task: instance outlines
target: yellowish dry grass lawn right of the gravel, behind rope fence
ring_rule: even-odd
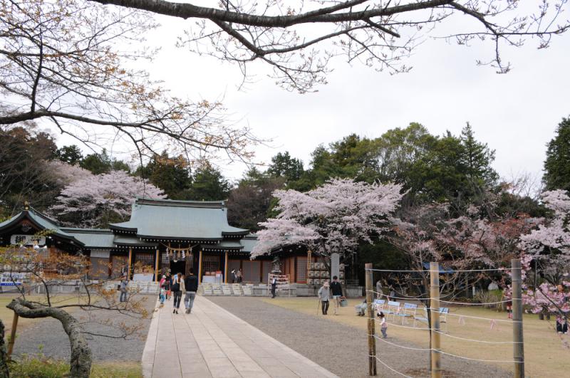
[[[289,310],[298,311],[299,313],[323,317],[323,315],[317,315],[318,300],[316,298],[266,298],[264,301]],[[358,327],[363,330],[363,336],[366,335],[366,317],[356,316],[354,311],[354,305],[361,302],[362,300],[358,299],[348,300],[348,307],[341,308],[340,315],[327,315],[326,320]],[[333,303],[331,302],[332,305]],[[332,314],[333,308],[329,308],[328,313]],[[423,316],[423,312],[418,311],[418,315]],[[465,315],[466,317],[458,315]],[[473,319],[467,316],[487,317],[497,320],[507,319],[506,313],[497,313],[496,310],[487,310],[479,306],[451,308],[450,315],[447,316],[447,322],[442,324],[442,331],[447,332],[447,335],[449,335],[441,335],[442,351],[476,359],[512,361],[512,344],[487,344],[450,337],[485,341],[512,341],[512,325],[508,322],[497,321],[497,325],[491,329],[489,320]],[[551,321],[546,321],[539,320],[538,315],[524,315],[524,367],[526,375],[532,377],[568,377],[570,335],[558,335],[554,332],[554,317],[552,319]],[[427,330],[397,327],[390,324],[393,322],[388,317],[388,337],[414,342],[419,347],[429,347],[429,332]],[[376,325],[376,331],[380,333],[378,323]],[[418,322],[417,327],[427,327],[427,325]],[[366,342],[364,338],[363,342]],[[377,341],[376,347],[381,348],[382,344],[381,341]],[[409,351],[403,350],[402,353],[403,356],[410,357]],[[497,363],[497,366],[509,371],[513,369],[510,363]],[[445,366],[443,368],[445,369]]]

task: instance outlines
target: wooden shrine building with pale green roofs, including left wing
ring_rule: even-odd
[[[40,231],[47,236],[36,236]],[[82,253],[90,260],[90,279],[159,280],[161,275],[189,273],[200,282],[231,283],[242,268],[244,283],[266,283],[273,255],[249,258],[257,238],[229,226],[224,201],[178,201],[137,198],[130,220],[108,229],[62,226],[26,206],[0,223],[0,245],[39,246],[48,253]],[[298,253],[296,253],[298,252]],[[291,283],[307,283],[306,251],[278,251],[281,269]]]

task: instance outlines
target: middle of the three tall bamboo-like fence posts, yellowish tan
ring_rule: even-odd
[[[430,309],[432,317],[432,329],[430,330],[432,345],[432,378],[441,378],[439,263],[430,263]]]

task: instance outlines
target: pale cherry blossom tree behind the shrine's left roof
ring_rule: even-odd
[[[125,171],[88,175],[65,187],[49,212],[70,226],[105,227],[125,220],[137,196],[165,198],[160,189]]]

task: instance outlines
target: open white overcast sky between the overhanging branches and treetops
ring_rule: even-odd
[[[185,22],[160,18],[163,24],[148,42],[162,50],[147,66],[165,80],[175,95],[193,99],[223,98],[234,120],[247,123],[258,137],[272,139],[257,148],[257,162],[269,162],[288,150],[309,164],[311,151],[355,132],[378,137],[394,127],[420,122],[432,134],[459,134],[470,122],[478,140],[496,149],[494,167],[503,177],[521,172],[541,175],[546,142],[556,125],[570,114],[570,33],[537,50],[537,42],[504,50],[513,69],[498,75],[475,61],[489,58],[492,46],[465,48],[445,41],[426,41],[406,62],[410,73],[390,75],[360,63],[333,61],[328,85],[317,93],[289,93],[267,78],[257,65],[255,83],[237,90],[239,68],[207,56],[175,48]],[[458,22],[458,21],[455,21]],[[242,163],[224,165],[231,179],[241,176]]]

